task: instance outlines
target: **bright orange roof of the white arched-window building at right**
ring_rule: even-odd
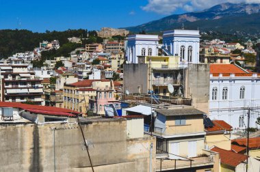
[[[233,64],[210,64],[211,74],[246,74],[246,72]]]

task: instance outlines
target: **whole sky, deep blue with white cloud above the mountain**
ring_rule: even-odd
[[[129,27],[224,2],[260,0],[0,0],[0,29],[44,32]]]

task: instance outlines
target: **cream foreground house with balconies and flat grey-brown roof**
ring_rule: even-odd
[[[152,135],[157,139],[157,171],[219,170],[218,155],[204,149],[202,111],[189,107],[155,109],[155,113]]]

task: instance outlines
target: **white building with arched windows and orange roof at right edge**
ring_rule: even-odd
[[[210,65],[209,117],[224,120],[234,129],[247,126],[245,108],[250,111],[250,127],[260,117],[260,76],[233,64]],[[259,127],[259,126],[258,126]]]

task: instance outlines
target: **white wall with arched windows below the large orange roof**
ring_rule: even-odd
[[[245,87],[245,98],[240,99],[240,88]],[[217,100],[212,100],[212,89],[217,87]],[[227,87],[227,100],[222,100],[222,89]],[[211,77],[209,89],[209,117],[229,123],[233,128],[239,128],[239,117],[244,116],[247,125],[246,107],[260,107],[260,78],[252,77]],[[260,110],[258,110],[260,111]],[[250,127],[257,127],[255,121],[258,112],[251,111]]]

